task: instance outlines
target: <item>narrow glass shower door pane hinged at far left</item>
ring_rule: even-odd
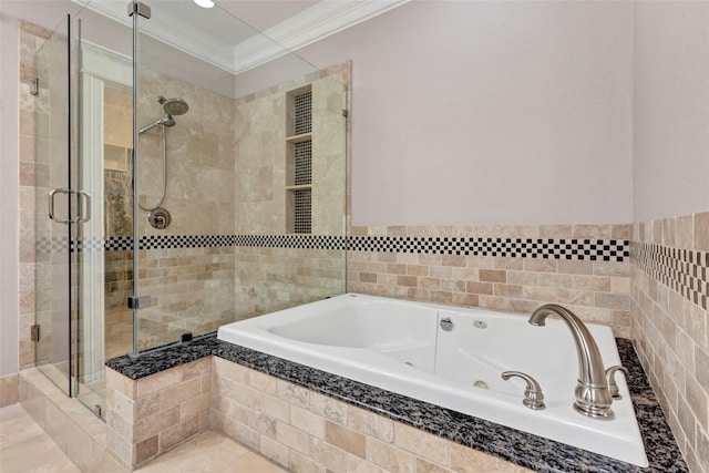
[[[72,193],[71,22],[66,17],[34,56],[35,136],[35,340],[37,366],[72,394],[75,342],[72,234],[79,195]],[[49,218],[48,218],[49,216]]]

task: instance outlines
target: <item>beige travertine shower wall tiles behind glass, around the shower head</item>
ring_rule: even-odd
[[[314,234],[343,235],[346,121],[341,109],[346,106],[342,81],[349,80],[349,71],[350,64],[345,63],[230,100],[141,68],[142,121],[154,120],[150,111],[160,116],[158,94],[181,96],[191,105],[167,128],[164,206],[173,214],[173,224],[163,232],[142,222],[141,235],[284,234],[286,91],[310,82],[316,93],[314,144],[318,148],[314,186],[323,203],[322,208],[314,203]],[[161,153],[157,133],[145,133],[141,146],[141,202],[151,205],[160,191],[155,185],[162,165],[155,158]],[[141,311],[141,349],[172,342],[185,331],[205,333],[228,321],[343,291],[343,251],[179,246],[141,251],[141,288],[153,297],[153,307]]]

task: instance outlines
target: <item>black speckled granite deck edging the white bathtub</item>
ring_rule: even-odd
[[[649,461],[648,467],[613,460],[227,343],[217,340],[216,333],[188,343],[143,353],[137,358],[130,356],[113,358],[106,361],[106,366],[136,380],[214,354],[538,472],[689,472],[659,402],[640,367],[633,343],[627,339],[616,339],[616,343],[620,360],[629,370],[628,387]]]

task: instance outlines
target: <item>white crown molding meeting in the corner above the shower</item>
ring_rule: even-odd
[[[72,0],[126,27],[133,25],[125,0]],[[176,16],[142,21],[141,32],[179,51],[238,74],[400,7],[410,0],[335,0],[314,7],[238,44],[224,44]],[[146,1],[150,4],[150,0]],[[165,16],[165,12],[162,13]]]

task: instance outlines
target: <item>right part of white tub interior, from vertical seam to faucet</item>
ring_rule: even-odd
[[[545,327],[534,327],[526,317],[490,312],[470,317],[440,310],[439,319],[442,318],[452,320],[454,326],[450,331],[438,331],[436,377],[520,398],[526,383],[520,378],[504,381],[501,374],[521,371],[540,383],[547,404],[568,402],[577,383],[578,360],[571,332],[562,320],[549,319]],[[610,328],[589,325],[588,329],[602,346],[604,364],[618,364],[615,346],[607,343],[614,340]]]

